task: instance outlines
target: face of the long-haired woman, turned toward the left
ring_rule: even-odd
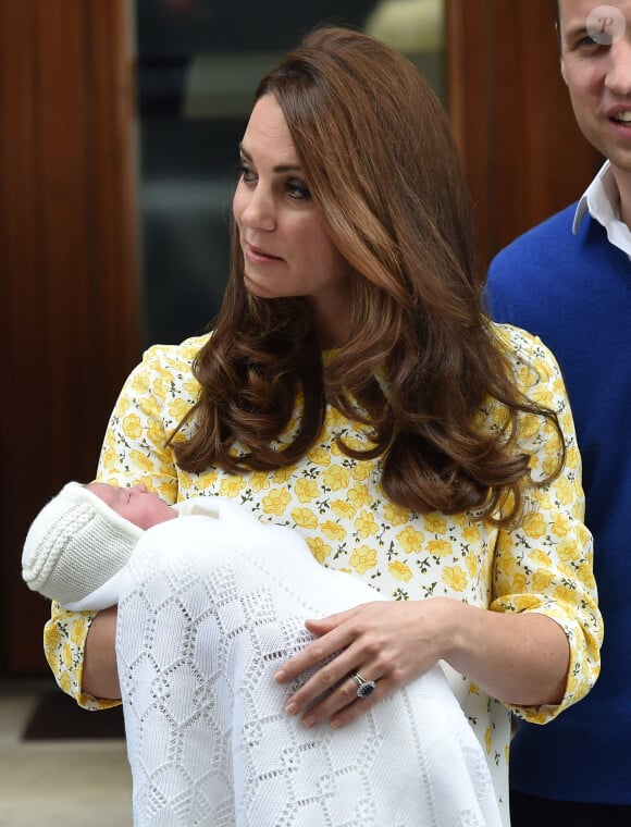
[[[348,264],[313,203],[283,112],[260,98],[240,145],[233,212],[245,285],[261,298],[307,296],[325,335],[346,319]]]

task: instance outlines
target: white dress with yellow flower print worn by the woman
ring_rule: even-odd
[[[163,446],[197,398],[191,362],[203,336],[178,346],[154,346],[145,354],[112,414],[98,479],[121,486],[143,482],[168,503],[199,495],[230,497],[263,521],[296,529],[322,565],[352,572],[393,600],[447,595],[494,612],[537,612],[554,618],[566,631],[571,653],[566,694],[558,706],[505,706],[466,678],[456,678],[456,693],[484,745],[506,812],[510,709],[544,724],[579,701],[596,680],[603,630],[591,535],[582,523],[580,456],[559,368],[534,336],[508,325],[497,330],[521,388],[558,412],[567,441],[562,474],[530,493],[519,528],[499,530],[482,522],[477,513],[423,515],[393,505],[380,484],[381,460],[352,459],[337,448],[337,435],[357,447],[367,444],[367,435],[363,427],[335,409],[329,409],[317,444],[290,468],[238,476],[213,467],[195,474],[182,471]],[[483,427],[500,425],[502,412],[493,400],[479,416]],[[523,416],[519,441],[532,457],[533,477],[554,467],[559,452],[554,429]],[[81,691],[83,650],[92,617],[53,604],[45,649],[61,688],[82,706],[102,708],[111,702]]]

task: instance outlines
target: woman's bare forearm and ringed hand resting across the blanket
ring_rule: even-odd
[[[306,626],[318,639],[275,676],[285,683],[331,658],[287,701],[287,713],[302,713],[306,726],[345,726],[441,659],[505,703],[555,705],[565,693],[569,643],[545,615],[432,597],[367,603]],[[357,696],[354,675],[375,682],[368,698]]]

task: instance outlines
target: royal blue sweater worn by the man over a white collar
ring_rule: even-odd
[[[491,264],[490,314],[556,355],[583,458],[585,522],[605,621],[595,688],[548,726],[521,724],[510,783],[568,801],[631,804],[631,262],[576,205]]]

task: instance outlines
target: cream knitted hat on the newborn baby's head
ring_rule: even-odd
[[[141,535],[85,485],[69,482],[28,530],[22,577],[62,606],[75,603],[123,568]]]

